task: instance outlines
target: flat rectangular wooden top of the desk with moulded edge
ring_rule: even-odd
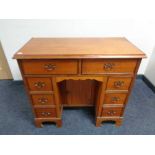
[[[15,59],[144,58],[126,38],[32,38]]]

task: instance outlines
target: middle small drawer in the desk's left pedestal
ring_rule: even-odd
[[[53,94],[50,95],[32,95],[33,105],[55,105]]]

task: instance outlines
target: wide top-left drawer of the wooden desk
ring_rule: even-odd
[[[23,60],[24,74],[77,74],[77,60]]]

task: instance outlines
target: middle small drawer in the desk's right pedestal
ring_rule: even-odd
[[[108,93],[105,95],[104,104],[124,104],[127,94]]]

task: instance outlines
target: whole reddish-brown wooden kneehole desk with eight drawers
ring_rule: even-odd
[[[32,38],[14,55],[37,127],[61,127],[63,107],[79,106],[95,107],[97,127],[109,120],[121,125],[145,57],[125,38]]]

